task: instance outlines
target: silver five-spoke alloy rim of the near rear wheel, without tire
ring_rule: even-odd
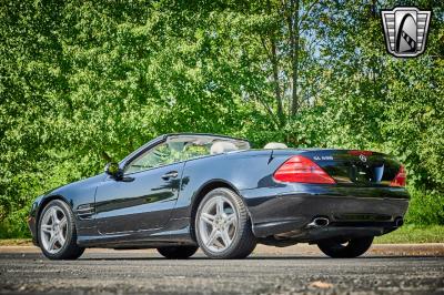
[[[233,243],[238,228],[238,212],[225,196],[218,195],[204,204],[199,216],[200,237],[211,252],[223,252]]]

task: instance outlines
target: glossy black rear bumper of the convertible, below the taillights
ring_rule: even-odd
[[[381,196],[363,196],[359,193],[359,196],[354,196],[339,194],[337,191],[322,194],[285,192],[265,196],[260,196],[253,190],[241,193],[258,237],[278,235],[299,242],[334,236],[382,235],[400,226],[396,223],[402,221],[408,207],[408,194],[403,189],[392,190],[391,197],[383,193]],[[329,225],[310,226],[315,217],[327,218]]]

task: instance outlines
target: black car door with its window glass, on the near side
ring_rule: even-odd
[[[95,220],[101,234],[163,227],[178,199],[184,162],[174,163],[162,143],[131,161],[124,176],[108,176],[95,193]]]

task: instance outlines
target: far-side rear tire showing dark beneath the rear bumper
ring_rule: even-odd
[[[364,254],[373,243],[373,236],[351,240],[329,238],[317,243],[317,247],[333,258],[354,258]]]

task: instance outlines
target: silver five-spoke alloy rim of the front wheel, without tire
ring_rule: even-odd
[[[59,206],[51,206],[40,223],[40,236],[42,246],[51,254],[62,250],[67,243],[68,220],[63,210]]]

